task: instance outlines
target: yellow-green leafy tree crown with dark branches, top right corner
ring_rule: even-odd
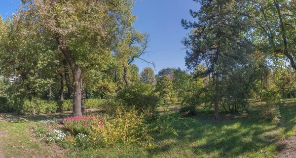
[[[258,50],[270,58],[287,58],[295,63],[296,28],[294,0],[245,0],[244,15],[252,24],[248,34],[254,39]]]

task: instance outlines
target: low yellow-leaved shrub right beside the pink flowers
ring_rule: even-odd
[[[151,129],[143,117],[143,114],[138,115],[138,111],[122,112],[122,109],[118,108],[116,116],[107,119],[103,126],[100,124],[93,126],[90,136],[96,145],[138,143],[143,147],[151,148],[153,138],[148,134]]]

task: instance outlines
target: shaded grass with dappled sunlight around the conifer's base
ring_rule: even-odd
[[[253,114],[221,113],[219,121],[212,119],[211,110],[201,110],[199,116],[184,119],[178,119],[178,113],[164,115],[178,120],[172,126],[179,136],[172,132],[153,133],[159,144],[153,154],[179,148],[190,149],[196,157],[274,157],[284,146],[279,141],[285,133],[295,130],[296,106],[282,107],[291,112],[281,111],[284,123],[278,125],[260,120],[260,107],[253,109]]]

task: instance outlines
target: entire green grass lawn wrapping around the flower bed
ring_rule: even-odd
[[[170,130],[151,132],[155,148],[145,149],[136,144],[86,149],[64,149],[45,144],[34,136],[31,127],[38,120],[61,118],[64,115],[25,117],[0,115],[0,152],[5,157],[74,157],[74,158],[271,158],[285,149],[286,139],[296,135],[296,100],[285,100],[280,106],[280,123],[264,121],[259,116],[261,104],[252,105],[250,112],[221,112],[221,119],[212,119],[213,111],[200,108],[198,116],[183,118],[172,109],[160,117]],[[161,108],[163,110],[163,108]],[[174,129],[174,130],[173,130]],[[174,134],[174,132],[176,132]],[[295,147],[295,146],[294,146]],[[0,155],[1,158],[1,155]]]

